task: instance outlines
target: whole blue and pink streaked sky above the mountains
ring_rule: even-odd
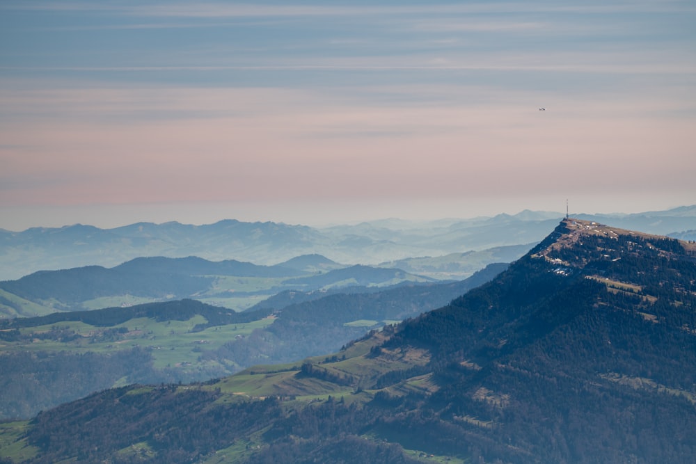
[[[693,205],[693,24],[669,0],[3,0],[0,228]]]

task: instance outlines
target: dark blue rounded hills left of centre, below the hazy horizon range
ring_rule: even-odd
[[[302,260],[314,264],[302,271],[302,266],[297,265]],[[332,270],[322,273],[316,270],[317,266]],[[389,287],[429,281],[432,279],[399,269],[345,267],[319,255],[298,258],[290,266],[260,266],[236,260],[211,262],[199,257],[140,257],[111,269],[86,266],[38,271],[18,280],[0,282],[0,314],[31,317],[56,310],[98,309],[180,298],[242,310],[288,289]]]

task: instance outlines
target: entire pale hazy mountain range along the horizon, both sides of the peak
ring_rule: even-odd
[[[22,232],[0,230],[0,280],[88,265],[111,268],[143,256],[198,256],[216,262],[237,259],[270,266],[302,255],[319,254],[345,264],[377,265],[409,257],[439,257],[538,243],[562,216],[525,210],[494,217],[388,219],[322,229],[226,220],[207,225],[136,223],[108,230],[80,224],[33,227]],[[694,206],[642,214],[576,217],[654,234],[696,230]]]

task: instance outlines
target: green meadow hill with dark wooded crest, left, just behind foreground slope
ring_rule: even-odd
[[[237,313],[198,301],[58,312],[0,322],[0,419],[127,383],[207,380],[239,370],[203,362],[235,337],[273,323],[270,311]]]

